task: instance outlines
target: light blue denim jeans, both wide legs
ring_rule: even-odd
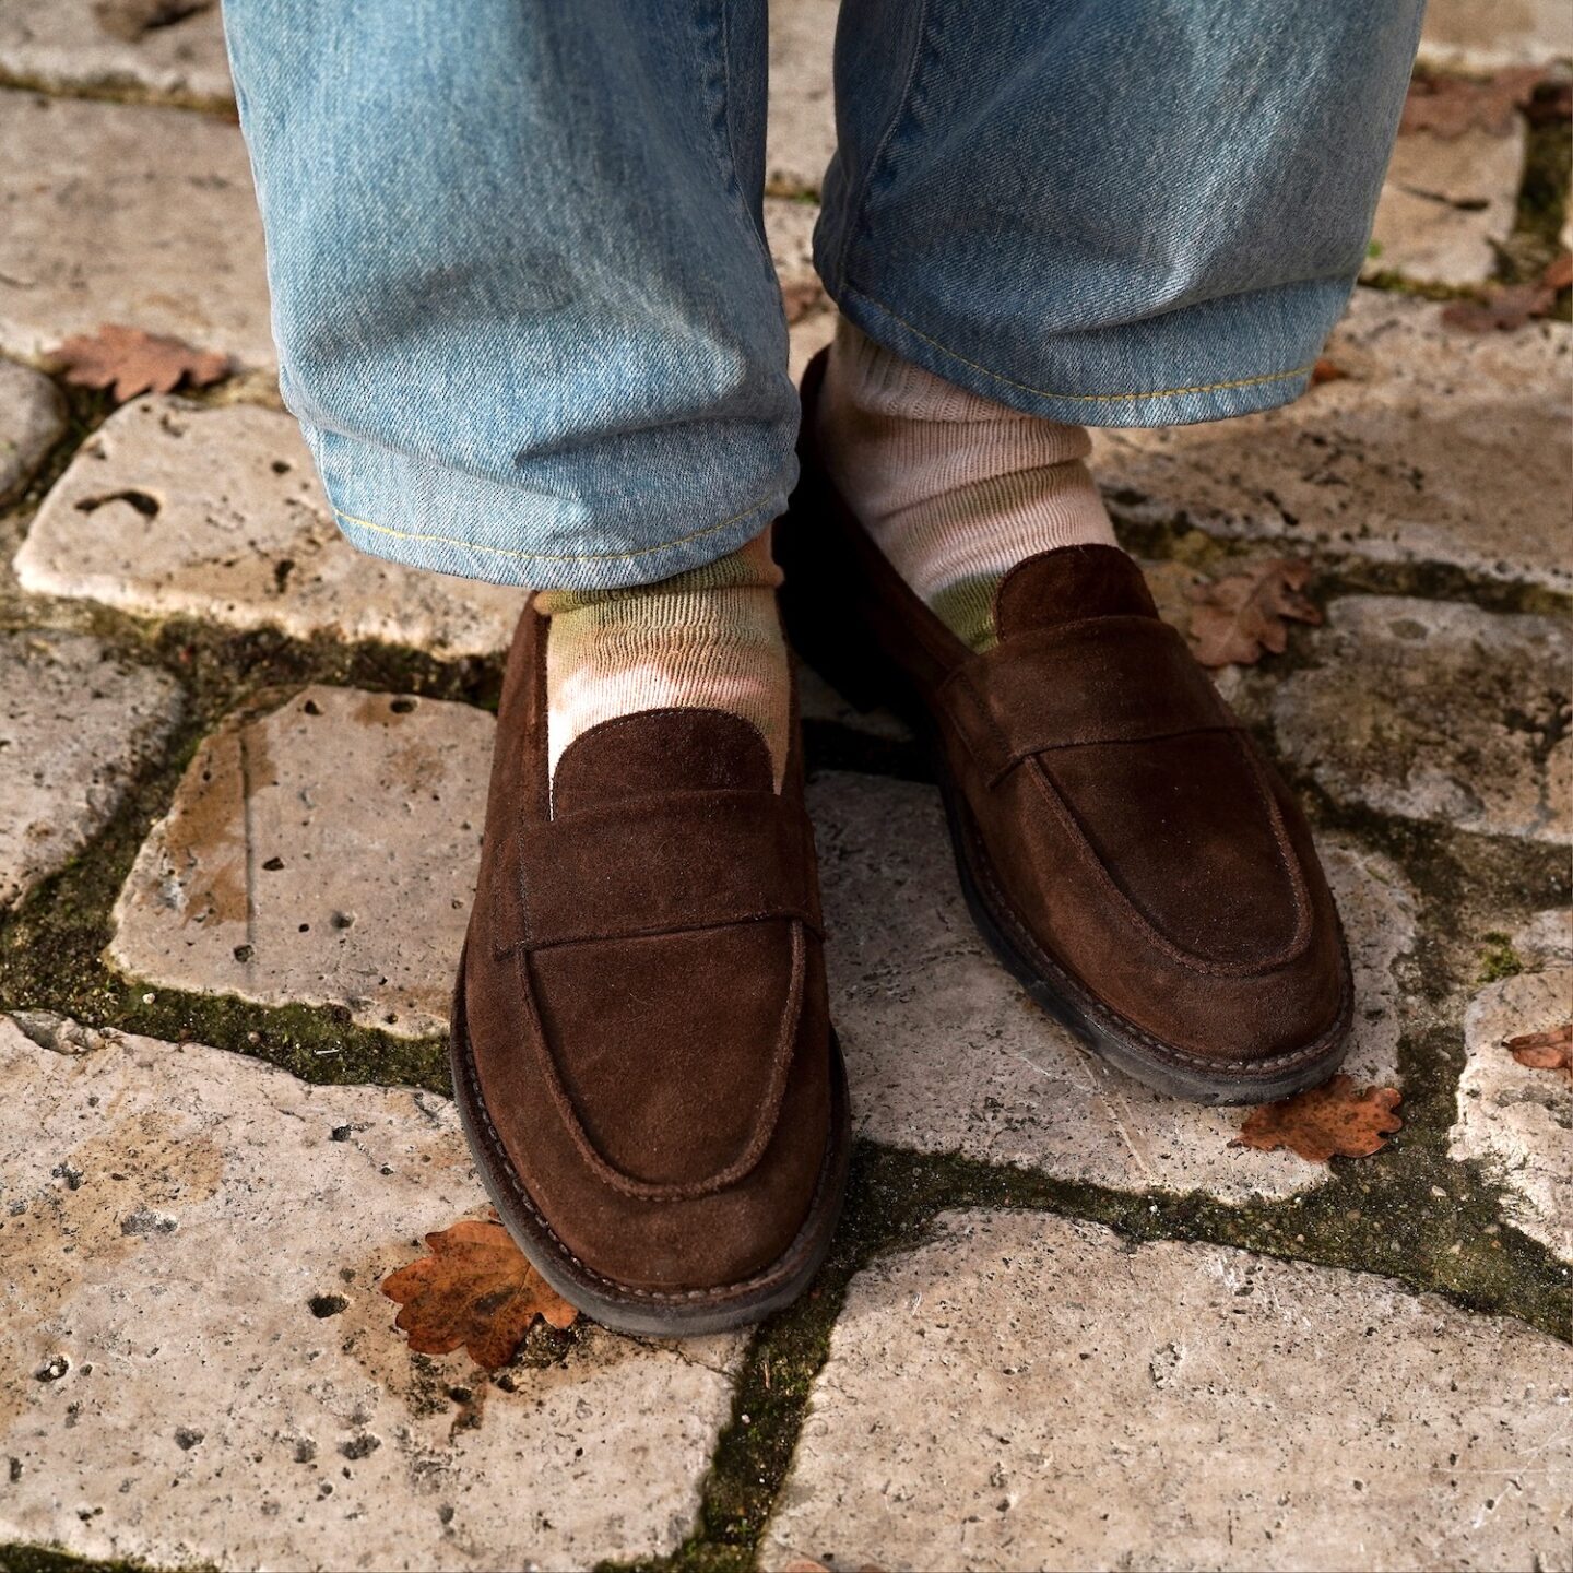
[[[846,0],[815,256],[881,344],[1033,415],[1295,398],[1422,0]],[[643,584],[757,535],[798,398],[764,0],[225,0],[283,395],[401,563]]]

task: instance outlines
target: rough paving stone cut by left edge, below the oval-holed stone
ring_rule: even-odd
[[[181,713],[181,689],[82,634],[0,634],[0,908],[63,867]]]

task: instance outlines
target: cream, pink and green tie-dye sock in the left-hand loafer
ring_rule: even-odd
[[[642,709],[725,709],[786,769],[791,686],[771,532],[703,568],[628,590],[541,590],[551,769],[574,738]]]

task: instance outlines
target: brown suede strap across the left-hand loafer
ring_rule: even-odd
[[[519,831],[524,944],[786,917],[821,928],[813,831],[763,791],[639,798]]]

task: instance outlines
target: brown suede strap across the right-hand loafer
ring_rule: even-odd
[[[1240,730],[1184,639],[1151,617],[1013,634],[958,667],[939,698],[989,785],[1052,749]]]

